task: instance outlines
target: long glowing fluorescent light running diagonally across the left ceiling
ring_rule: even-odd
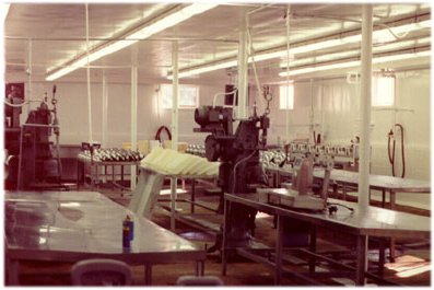
[[[128,34],[125,36],[125,39],[117,40],[117,42],[112,42],[106,45],[99,46],[92,51],[90,51],[89,56],[87,54],[83,54],[75,60],[72,60],[68,66],[64,66],[63,68],[60,68],[58,70],[49,72],[47,76],[46,80],[47,81],[52,81],[56,80],[60,77],[63,77],[71,71],[74,71],[83,66],[89,65],[92,61],[95,61],[104,56],[110,55],[113,53],[116,53],[120,49],[124,49],[137,42],[139,39],[145,39],[159,32],[162,32],[168,27],[172,27],[176,24],[181,23],[183,21],[186,21],[193,15],[203,13],[210,9],[213,9],[218,4],[211,4],[211,3],[192,3],[187,7],[184,7],[176,12],[169,13],[167,15],[164,15],[161,19],[155,20],[151,24],[148,24],[146,26],[136,30],[132,33]]]

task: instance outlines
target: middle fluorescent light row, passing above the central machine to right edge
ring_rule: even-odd
[[[400,26],[395,26],[395,27],[389,27],[389,28],[383,28],[373,32],[373,38],[374,39],[382,39],[382,42],[385,42],[385,39],[388,40],[395,40],[395,36],[390,33],[389,30],[391,30],[395,34],[402,34],[407,32],[413,32],[422,28],[429,28],[431,27],[431,20],[426,21],[421,21],[418,23],[410,23],[410,24],[404,24]],[[391,38],[392,37],[392,38]],[[424,38],[425,39],[425,38]],[[316,43],[310,43],[306,45],[301,45],[301,46],[292,46],[290,48],[291,55],[297,55],[297,54],[306,54],[310,53],[314,50],[319,50],[319,49],[325,49],[325,48],[330,48],[330,47],[336,47],[336,46],[341,46],[345,44],[352,44],[352,43],[357,43],[362,40],[362,35],[356,34],[356,35],[350,35],[350,36],[344,36],[341,38],[336,38],[336,39],[326,39],[326,40],[320,40]],[[263,51],[263,53],[258,53],[255,56],[255,61],[262,61],[262,60],[269,60],[269,59],[274,59],[274,58],[281,58],[281,57],[286,57],[286,49],[274,49],[273,51]],[[251,57],[248,59],[248,62],[251,62],[253,59]],[[235,65],[234,65],[235,63]],[[179,71],[178,77],[179,78],[185,78],[185,77],[190,77],[195,74],[200,74],[203,72],[209,72],[218,69],[223,69],[223,68],[230,68],[236,66],[236,61],[227,60],[224,62],[219,62],[219,65],[214,63],[207,63],[202,66],[197,66],[193,68],[185,68],[184,70],[181,69]],[[172,76],[167,77],[168,79],[172,79]]]

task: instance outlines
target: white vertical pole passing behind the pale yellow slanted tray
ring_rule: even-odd
[[[172,43],[172,149],[178,150],[178,95],[179,95],[179,78],[178,78],[178,42]],[[176,187],[177,178],[171,178],[171,230],[175,231],[175,211],[176,211]]]

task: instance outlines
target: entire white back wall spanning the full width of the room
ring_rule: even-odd
[[[395,123],[403,125],[406,146],[406,177],[430,179],[430,70],[417,70],[397,73],[397,106],[411,112],[373,111],[372,112],[372,173],[391,175],[387,158],[387,134]],[[162,125],[171,127],[169,109],[159,109],[157,84],[141,84],[138,88],[138,139],[153,139]],[[34,83],[33,96],[51,94],[47,83]],[[224,91],[222,84],[201,84],[200,105],[211,105],[215,93]],[[263,114],[265,103],[250,86],[250,112],[254,102],[257,112]],[[321,134],[326,143],[349,144],[359,135],[359,91],[355,84],[345,79],[306,81],[295,83],[293,111],[279,109],[279,90],[274,85],[274,95],[270,104],[271,127],[269,143],[281,143],[296,138],[310,138],[314,129]],[[63,144],[80,144],[87,140],[87,93],[85,83],[57,84],[60,140]],[[222,104],[223,97],[218,98]],[[130,84],[108,83],[108,124],[107,146],[120,147],[130,139]],[[313,108],[313,111],[312,111]],[[22,117],[26,117],[25,109]],[[313,112],[313,115],[312,115]],[[102,140],[102,85],[92,84],[93,139]],[[310,127],[310,120],[314,127]],[[289,131],[286,138],[286,123]],[[193,119],[193,109],[179,111],[179,141],[203,143],[207,134],[192,132],[198,127]],[[399,153],[399,152],[398,152]],[[398,169],[398,172],[400,170]],[[399,195],[398,202],[429,207],[429,195]]]

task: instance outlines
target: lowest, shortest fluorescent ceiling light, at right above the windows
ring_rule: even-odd
[[[373,63],[383,63],[383,62],[388,62],[388,61],[394,61],[394,60],[419,58],[419,57],[425,57],[425,56],[430,56],[430,55],[431,55],[431,51],[426,50],[426,51],[420,51],[420,53],[413,53],[413,54],[398,54],[398,55],[391,55],[391,56],[376,57],[376,58],[373,58]],[[325,66],[319,66],[319,67],[308,67],[308,68],[290,70],[290,77],[303,74],[303,73],[309,73],[309,72],[318,72],[318,71],[331,70],[331,69],[344,69],[344,68],[352,68],[352,67],[359,67],[359,66],[360,66],[360,60],[352,60],[352,61],[338,62],[338,63],[325,65]],[[288,71],[280,72],[279,77],[288,77]]]

